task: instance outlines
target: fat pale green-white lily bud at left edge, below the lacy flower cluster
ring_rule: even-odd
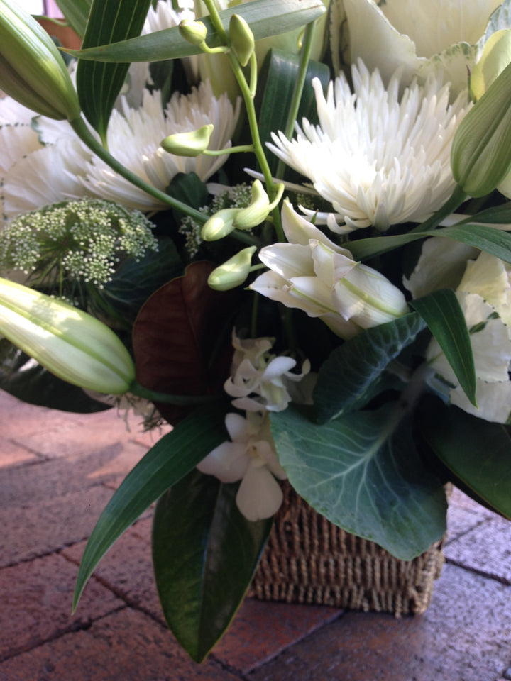
[[[123,394],[135,365],[101,321],[45,294],[0,278],[0,333],[59,378],[106,394]]]

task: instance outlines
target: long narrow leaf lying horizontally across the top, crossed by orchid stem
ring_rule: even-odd
[[[129,1],[129,0],[128,0]],[[270,35],[280,35],[293,31],[314,21],[325,11],[321,0],[253,0],[246,4],[236,4],[221,11],[220,18],[226,30],[233,14],[242,16],[251,27],[255,40],[269,38]],[[201,18],[207,27],[207,44],[210,48],[221,44],[221,39],[211,25],[209,17]],[[84,60],[98,60],[102,62],[155,62],[177,57],[189,57],[202,54],[197,45],[191,45],[181,37],[179,28],[165,28],[139,38],[122,40],[111,45],[112,40],[105,40],[104,44],[87,50],[66,50],[71,55]]]

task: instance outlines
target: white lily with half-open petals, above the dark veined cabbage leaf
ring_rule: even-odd
[[[282,226],[290,243],[265,246],[260,260],[270,268],[251,289],[287,307],[319,317],[341,338],[393,321],[408,311],[400,289],[346,248],[299,216],[285,201]]]

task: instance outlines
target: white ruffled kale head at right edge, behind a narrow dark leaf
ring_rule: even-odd
[[[451,404],[468,414],[507,423],[511,416],[510,265],[494,255],[434,237],[424,243],[417,267],[405,280],[405,286],[414,298],[439,288],[456,288],[471,335],[478,406],[466,397],[434,339],[427,348],[427,360],[440,382],[434,380],[432,384],[446,386]]]

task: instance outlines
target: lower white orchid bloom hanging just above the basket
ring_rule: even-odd
[[[270,433],[268,413],[227,414],[231,441],[216,447],[197,468],[221,482],[241,480],[236,504],[243,516],[257,521],[273,516],[282,503],[282,490],[275,477],[287,477],[278,463]]]

